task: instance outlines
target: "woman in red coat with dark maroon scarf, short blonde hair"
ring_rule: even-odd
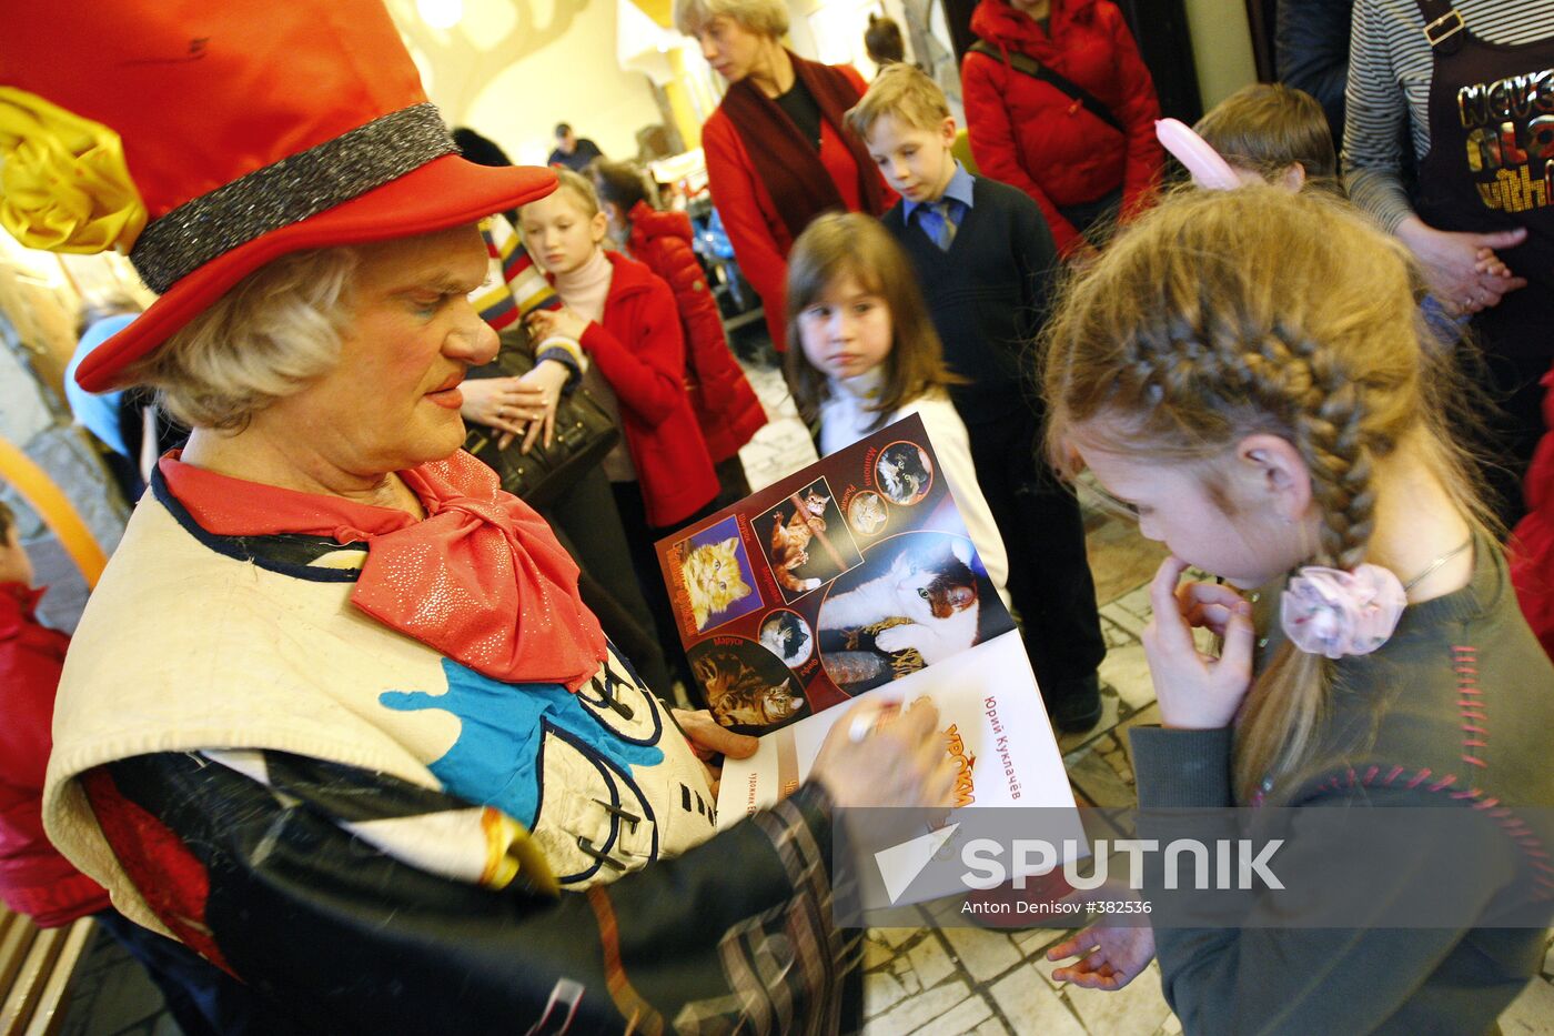
[[[782,0],[676,0],[674,25],[696,37],[702,58],[729,82],[701,128],[707,185],[782,350],[794,238],[822,212],[878,216],[895,201],[842,121],[867,84],[850,65],[822,65],[786,50]]]

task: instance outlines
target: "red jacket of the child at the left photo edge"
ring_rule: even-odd
[[[44,834],[54,691],[70,638],[33,618],[42,596],[0,583],[0,899],[51,929],[106,910],[109,901]]]

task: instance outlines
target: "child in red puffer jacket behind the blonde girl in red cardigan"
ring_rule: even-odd
[[[718,470],[718,502],[743,499],[751,484],[740,446],[766,425],[766,411],[729,352],[718,302],[692,247],[690,216],[653,208],[642,173],[632,165],[595,162],[592,174],[611,236],[674,292],[685,333],[685,389]]]

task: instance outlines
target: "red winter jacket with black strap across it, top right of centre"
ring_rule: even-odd
[[[1124,215],[1147,205],[1166,162],[1155,138],[1155,82],[1122,11],[1108,0],[1052,0],[1051,36],[1004,0],[982,0],[971,31],[1002,53],[1024,53],[1089,90],[1127,128],[1119,134],[1049,82],[998,58],[968,53],[960,68],[967,134],[982,176],[1037,199],[1058,252],[1078,230],[1058,213],[1122,188]]]

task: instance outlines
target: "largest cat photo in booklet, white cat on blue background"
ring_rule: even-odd
[[[817,636],[825,675],[856,695],[1012,628],[970,538],[908,532],[830,586]]]

